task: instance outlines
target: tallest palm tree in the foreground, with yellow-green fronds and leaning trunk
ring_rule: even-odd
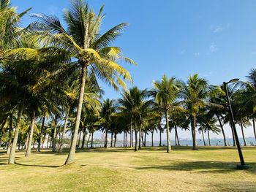
[[[127,23],[121,23],[111,28],[105,34],[100,35],[102,19],[105,17],[105,15],[102,15],[102,10],[103,7],[99,10],[98,14],[95,14],[90,9],[89,4],[85,4],[82,0],[72,0],[70,9],[64,11],[67,30],[61,26],[61,22],[56,17],[34,15],[40,20],[40,22],[34,24],[34,28],[41,30],[37,32],[41,43],[50,45],[48,48],[45,47],[44,50],[50,49],[55,51],[55,53],[69,55],[69,60],[76,58],[77,61],[74,61],[72,64],[80,70],[78,110],[74,133],[72,134],[72,143],[65,164],[72,163],[75,158],[75,146],[78,139],[86,76],[94,74],[116,90],[118,85],[126,87],[124,80],[132,81],[129,72],[117,62],[123,60],[135,64],[134,61],[124,57],[121,53],[121,48],[110,46],[121,34],[124,27],[127,26]],[[20,49],[15,50],[15,53],[35,57],[38,51]]]

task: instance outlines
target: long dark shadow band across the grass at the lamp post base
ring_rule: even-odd
[[[141,166],[136,169],[164,169],[173,171],[197,171],[201,173],[226,173],[235,172],[238,163],[229,163],[222,161],[190,161],[190,162],[174,162],[165,166]],[[256,163],[247,164],[249,169],[245,169],[244,172],[250,172],[256,174]]]

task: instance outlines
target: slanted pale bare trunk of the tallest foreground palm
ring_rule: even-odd
[[[67,160],[65,164],[71,164],[72,162],[75,161],[75,147],[78,139],[78,129],[80,126],[80,118],[81,118],[81,112],[83,107],[83,96],[84,96],[85,85],[86,85],[86,64],[83,64],[82,74],[81,74],[80,94],[78,99],[78,112],[75,118],[75,128],[74,128],[74,134],[72,135],[72,142],[69,149],[69,155],[67,156]]]

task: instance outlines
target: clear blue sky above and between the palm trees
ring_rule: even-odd
[[[130,23],[114,45],[137,62],[138,66],[127,69],[139,88],[150,88],[162,74],[186,80],[198,73],[211,84],[233,77],[245,80],[255,67],[256,1],[91,0],[89,4],[95,11],[105,4],[102,31]],[[69,1],[12,0],[12,5],[19,11],[33,7],[31,13],[61,17]],[[23,23],[29,22],[30,18],[24,18]],[[104,88],[107,97],[119,96]]]

